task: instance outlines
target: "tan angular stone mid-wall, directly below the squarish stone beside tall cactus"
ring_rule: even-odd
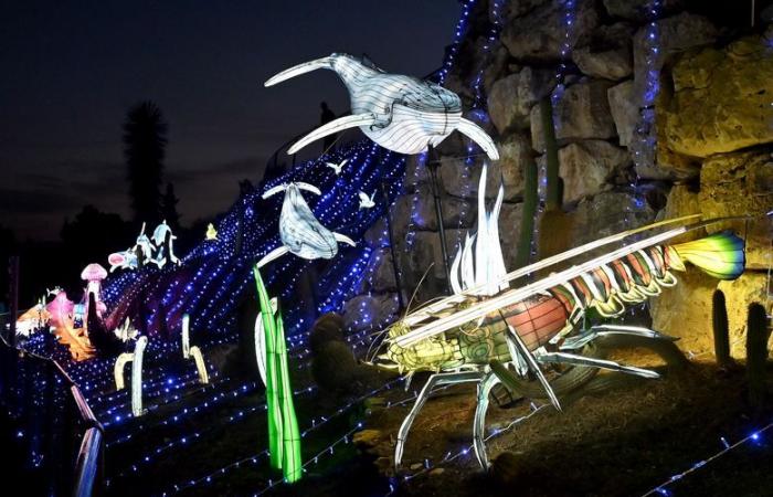
[[[563,202],[573,203],[611,188],[608,180],[631,163],[627,150],[608,141],[584,140],[559,150]]]

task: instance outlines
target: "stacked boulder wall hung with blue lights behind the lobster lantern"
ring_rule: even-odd
[[[525,167],[544,163],[538,103],[557,91],[557,74],[562,87],[553,114],[572,245],[656,218],[773,209],[773,28],[723,25],[738,17],[701,11],[702,2],[660,3],[653,19],[644,0],[576,0],[568,31],[563,2],[510,0],[499,13],[499,39],[485,50],[495,12],[478,2],[446,86],[462,95],[466,109],[476,102],[486,107],[487,115],[477,108],[467,117],[496,138],[501,155],[489,168],[487,198],[501,177],[500,237],[508,268],[523,212]],[[559,71],[561,62],[565,68]],[[478,75],[483,98],[469,84]],[[476,220],[483,161],[477,149],[469,157],[468,145],[454,134],[438,148],[451,257]],[[426,272],[416,293],[424,302],[444,293],[445,274],[430,175],[420,158],[407,160],[406,192],[391,209],[395,262],[405,302]],[[748,273],[719,283],[690,269],[649,306],[654,327],[682,337],[695,353],[711,349],[714,288],[728,297],[734,355],[743,348],[745,306],[764,303],[773,292],[765,288],[773,257],[770,218],[710,231],[726,228],[746,237]],[[362,326],[354,324],[356,309],[384,319],[398,311],[385,233],[382,222],[368,235],[380,256],[361,295],[347,305],[353,327]]]

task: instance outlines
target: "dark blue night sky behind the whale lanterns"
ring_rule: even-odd
[[[56,240],[87,203],[128,218],[131,105],[165,114],[165,179],[187,224],[227,209],[240,179],[257,181],[276,148],[318,124],[321,101],[348,108],[332,72],[264,88],[267,77],[337,51],[423,76],[459,13],[456,0],[65,3],[0,14],[0,224],[21,240]]]

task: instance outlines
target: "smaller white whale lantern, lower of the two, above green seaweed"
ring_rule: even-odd
[[[357,245],[350,237],[322,226],[314,216],[300,190],[321,194],[317,187],[303,182],[283,183],[263,193],[263,198],[267,199],[284,191],[285,200],[279,214],[282,246],[264,255],[257,262],[258,268],[288,252],[308,260],[332,258],[338,253],[338,242]]]

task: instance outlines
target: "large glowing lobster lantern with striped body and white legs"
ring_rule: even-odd
[[[605,360],[587,351],[593,350],[594,340],[603,337],[627,336],[638,342],[652,340],[660,343],[674,340],[671,337],[639,327],[601,325],[581,329],[580,325],[591,308],[604,317],[614,317],[622,314],[626,305],[657,296],[663,287],[677,283],[673,272],[686,271],[685,262],[720,279],[737,278],[744,268],[744,246],[743,241],[732,233],[717,233],[676,245],[664,244],[687,231],[719,221],[696,222],[697,218],[690,215],[663,221],[612,235],[505,276],[499,276],[497,271],[491,273],[491,268],[499,267],[497,251],[489,250],[494,255],[488,261],[485,253],[478,252],[473,263],[472,247],[463,247],[452,274],[456,294],[420,308],[392,325],[388,329],[386,351],[379,356],[382,366],[409,374],[433,372],[400,427],[395,466],[401,464],[413,420],[436,387],[462,382],[478,384],[474,448],[480,466],[487,467],[485,415],[488,395],[497,383],[517,388],[533,378],[532,381],[540,384],[560,410],[559,400],[543,371],[550,364],[583,367],[580,371],[587,371],[587,379],[599,369],[658,378],[655,371]],[[485,222],[481,224],[480,220]],[[479,213],[477,243],[486,240],[487,230],[491,230],[490,221],[490,215],[486,218]],[[526,286],[509,287],[510,282],[560,261],[621,242],[634,233],[674,223],[681,223],[681,226],[629,243]],[[472,237],[466,245],[469,245],[469,240]],[[476,277],[478,271],[488,271],[493,279]],[[457,272],[462,273],[460,281]]]

